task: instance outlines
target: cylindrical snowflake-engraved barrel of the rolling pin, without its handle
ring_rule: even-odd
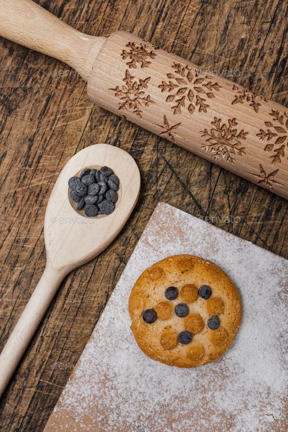
[[[288,113],[128,32],[103,43],[88,97],[108,111],[288,199]]]

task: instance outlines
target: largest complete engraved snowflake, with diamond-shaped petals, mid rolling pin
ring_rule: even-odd
[[[173,63],[174,73],[166,74],[168,82],[162,81],[158,85],[161,92],[168,92],[166,102],[173,102],[171,107],[173,114],[181,114],[182,109],[186,108],[193,114],[196,106],[199,112],[207,112],[209,104],[207,99],[215,98],[214,92],[219,91],[222,86],[218,82],[210,81],[210,75],[200,76],[199,70],[189,65]]]

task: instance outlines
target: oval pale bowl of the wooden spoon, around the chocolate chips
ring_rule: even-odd
[[[119,178],[118,201],[109,215],[89,218],[71,205],[68,180],[83,168],[107,165]],[[102,252],[129,218],[140,191],[140,173],[124,150],[95,144],[73,156],[62,169],[52,190],[44,221],[47,261],[67,273]]]

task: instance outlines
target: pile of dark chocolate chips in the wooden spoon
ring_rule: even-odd
[[[78,203],[76,209],[84,209],[86,216],[113,213],[118,199],[119,179],[108,166],[98,170],[85,168],[80,177],[71,177],[68,185],[71,199]]]

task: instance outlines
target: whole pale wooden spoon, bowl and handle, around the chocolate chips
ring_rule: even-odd
[[[87,166],[109,166],[120,180],[118,201],[110,215],[87,218],[70,203],[68,180]],[[84,148],[62,169],[48,201],[44,240],[46,267],[0,354],[0,395],[26,350],[63,278],[96,257],[115,239],[140,192],[140,173],[124,150],[107,144]]]

